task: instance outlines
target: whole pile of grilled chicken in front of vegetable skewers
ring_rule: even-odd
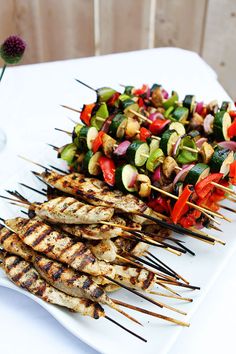
[[[169,291],[167,285],[188,287],[165,265],[156,263],[153,270],[137,262],[149,247],[142,242],[142,230],[155,232],[153,242],[169,235],[146,219],[152,210],[144,202],[78,173],[46,170],[37,175],[47,185],[47,200],[30,203],[13,193],[27,216],[4,220],[0,226],[2,267],[16,285],[95,319],[105,316],[101,305],[124,314],[121,303],[107,294],[119,287],[136,294],[148,293],[157,284]]]

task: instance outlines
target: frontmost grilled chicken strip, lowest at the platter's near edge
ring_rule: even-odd
[[[105,315],[103,308],[98,303],[66,295],[49,285],[29,262],[18,256],[7,256],[3,261],[3,268],[13,283],[46,302],[67,307],[83,316],[95,319]]]

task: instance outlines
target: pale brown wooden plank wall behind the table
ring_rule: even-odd
[[[0,0],[0,43],[23,63],[175,46],[198,52],[236,98],[236,0]]]

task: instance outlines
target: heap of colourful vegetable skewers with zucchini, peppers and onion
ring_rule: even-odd
[[[71,171],[139,195],[164,219],[186,228],[217,227],[217,219],[226,219],[220,201],[235,201],[236,183],[236,111],[230,102],[204,104],[194,95],[180,102],[175,91],[169,96],[158,84],[94,91],[97,101],[76,110],[82,123],[66,131],[72,143],[54,146]]]

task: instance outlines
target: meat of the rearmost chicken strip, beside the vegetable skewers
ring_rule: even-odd
[[[79,173],[61,175],[54,171],[41,174],[43,180],[54,188],[80,197],[92,205],[112,207],[124,213],[150,214],[152,210],[132,194],[110,190],[105,182],[85,177]]]

